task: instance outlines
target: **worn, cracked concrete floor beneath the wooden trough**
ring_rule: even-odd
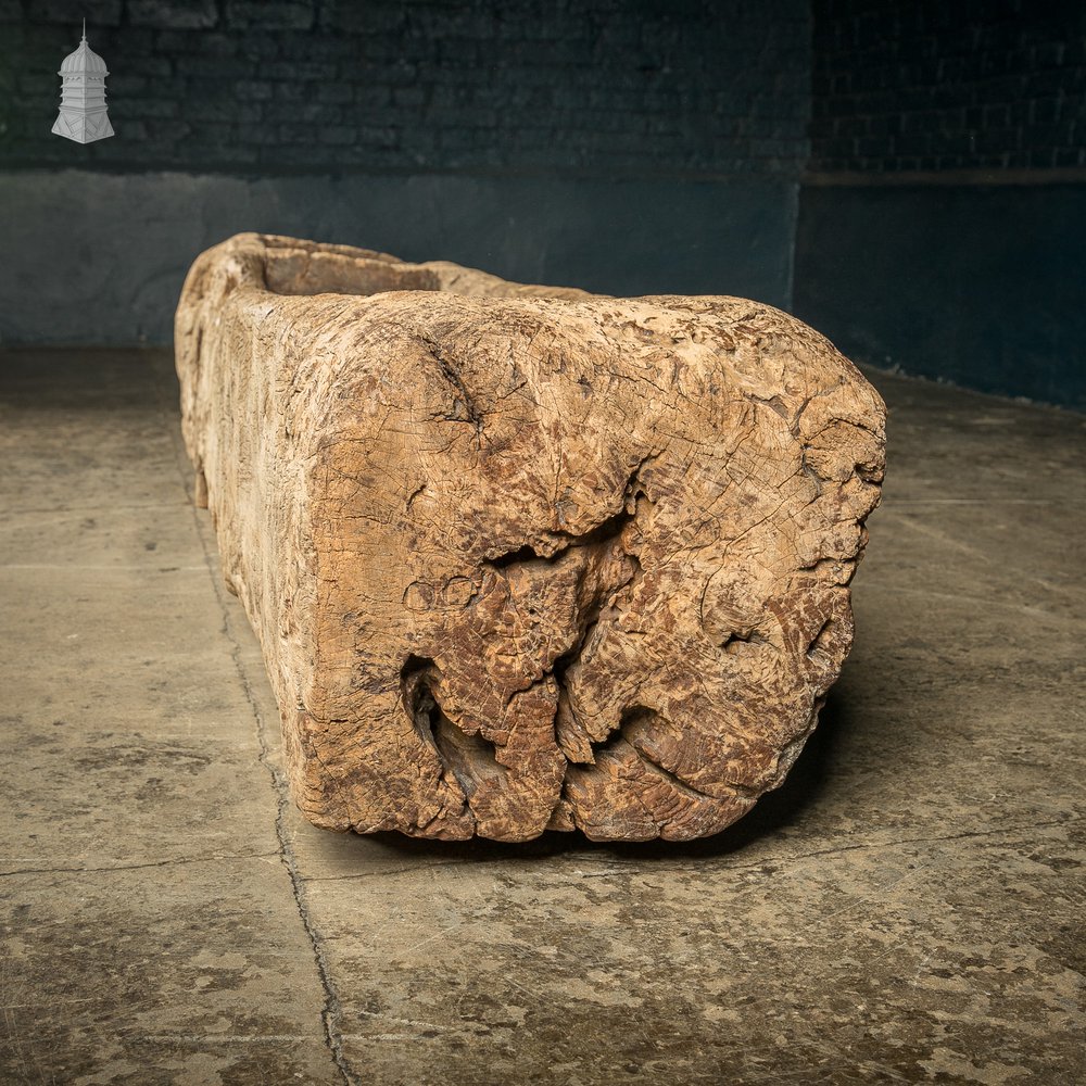
[[[5,1083],[1086,1082],[1086,418],[872,375],[858,636],[689,846],[336,836],[163,352],[0,358]]]

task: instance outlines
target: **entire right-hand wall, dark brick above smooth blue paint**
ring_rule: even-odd
[[[795,312],[877,366],[1086,407],[1086,3],[815,0]]]

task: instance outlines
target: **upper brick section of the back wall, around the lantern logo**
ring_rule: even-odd
[[[86,15],[116,138],[50,135]],[[791,176],[804,0],[0,0],[0,164]]]

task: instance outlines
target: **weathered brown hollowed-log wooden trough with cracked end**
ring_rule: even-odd
[[[683,839],[781,783],[883,472],[882,401],[817,332],[240,235],[176,350],[313,822]]]

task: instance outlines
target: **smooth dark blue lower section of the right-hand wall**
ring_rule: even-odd
[[[1086,185],[806,188],[796,261],[851,357],[1086,409]]]

